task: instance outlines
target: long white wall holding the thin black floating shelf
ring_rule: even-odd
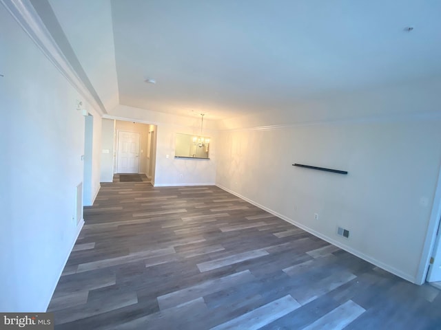
[[[378,94],[387,100],[387,92]],[[409,96],[409,102],[418,107],[407,109],[409,113],[434,106],[423,98],[411,100],[415,95]],[[430,100],[436,98],[440,96],[431,95]],[[369,102],[377,109],[384,107],[380,99],[365,96],[359,103]],[[387,104],[395,102],[391,99]],[[345,107],[345,100],[338,104]],[[337,112],[356,115],[358,109],[346,104],[349,109]],[[441,102],[436,104],[439,107]],[[320,109],[331,111],[332,105],[329,101]],[[369,120],[285,122],[273,129],[222,131],[216,184],[416,281],[440,171],[441,109],[410,117],[391,114],[401,109],[390,110]],[[248,126],[249,122],[236,118],[234,124]],[[294,163],[349,174],[297,168]],[[314,213],[319,214],[318,220]],[[336,235],[338,225],[350,230],[349,239]]]

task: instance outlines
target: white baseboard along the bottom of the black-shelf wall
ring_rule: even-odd
[[[370,256],[367,256],[366,254],[364,254],[358,250],[355,250],[355,249],[351,248],[350,246],[345,245],[344,243],[341,243],[340,241],[336,241],[335,239],[331,239],[330,237],[325,236],[325,235],[321,234],[320,232],[317,232],[316,230],[307,227],[306,225],[302,225],[302,223],[298,223],[297,221],[294,221],[293,219],[285,217],[285,215],[280,214],[274,210],[271,210],[270,208],[267,208],[267,207],[261,205],[260,203],[256,203],[256,201],[253,201],[252,199],[248,199],[247,197],[240,195],[237,192],[234,192],[233,190],[229,190],[228,188],[220,186],[219,184],[216,184],[216,186],[218,186],[220,189],[223,189],[223,190],[229,192],[232,195],[235,195],[237,197],[240,197],[241,199],[244,199],[245,201],[247,201],[249,203],[252,203],[254,206],[257,206],[258,208],[261,208],[271,214],[274,214],[276,217],[279,217],[280,219],[283,219],[293,225],[296,225],[298,228],[305,230],[305,232],[309,232],[310,234],[313,234],[314,236],[317,236],[318,238],[320,238],[324,241],[327,241],[328,243],[336,245],[338,248],[345,250],[345,251],[353,254],[354,256],[358,256],[360,259],[368,261],[369,263],[373,263],[373,265],[376,265],[376,266],[382,268],[383,270],[387,270],[388,272],[391,272],[392,274],[395,274],[396,276],[404,278],[404,280],[407,280],[412,283],[416,283],[416,278],[414,276],[411,276],[410,274],[404,273],[400,270],[397,270],[394,267],[391,267],[390,265],[387,265],[385,263],[382,263],[381,261],[378,261],[377,259],[371,258]]]

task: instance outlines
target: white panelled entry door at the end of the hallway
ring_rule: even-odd
[[[118,131],[117,173],[138,173],[139,133]]]

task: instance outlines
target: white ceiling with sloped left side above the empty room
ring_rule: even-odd
[[[441,76],[439,0],[50,5],[107,111],[119,102],[220,119]]]

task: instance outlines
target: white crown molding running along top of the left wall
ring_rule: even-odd
[[[41,21],[39,14],[35,11],[29,0],[0,0],[12,17],[21,25],[21,28],[30,36],[30,39],[40,48],[48,60],[56,67],[68,82],[81,94],[94,110],[103,115],[103,109],[96,102],[95,98],[83,81],[77,76],[50,32]],[[74,104],[72,104],[72,108]]]

